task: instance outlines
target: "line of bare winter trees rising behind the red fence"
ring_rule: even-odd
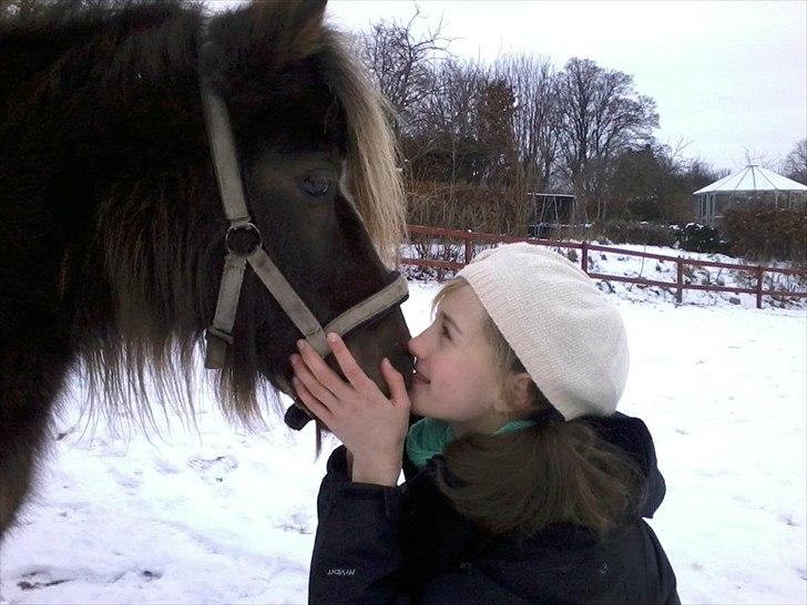
[[[488,208],[500,232],[524,224],[537,192],[574,194],[573,222],[685,222],[692,192],[728,174],[685,157],[683,142],[654,139],[656,103],[631,75],[582,58],[561,68],[530,54],[460,60],[441,24],[416,33],[420,19],[382,20],[355,37],[391,105],[415,197],[462,206],[458,196],[499,192],[496,203],[512,211]],[[472,228],[467,215],[459,222]]]

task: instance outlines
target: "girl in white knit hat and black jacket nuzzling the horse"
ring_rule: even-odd
[[[387,398],[329,335],[347,379],[300,342],[298,396],[344,443],[318,498],[311,603],[678,603],[642,516],[664,481],[616,308],[529,244],[486,250],[409,342]],[[425,417],[409,424],[410,411]],[[397,485],[401,469],[406,482]]]

